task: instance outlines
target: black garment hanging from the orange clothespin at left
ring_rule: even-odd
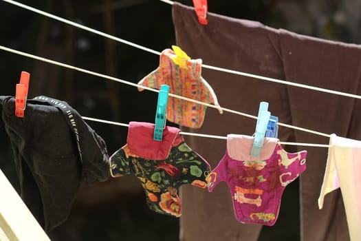
[[[15,99],[0,96],[11,140],[21,197],[45,231],[67,219],[80,182],[109,178],[105,141],[64,101],[28,100],[24,118]]]

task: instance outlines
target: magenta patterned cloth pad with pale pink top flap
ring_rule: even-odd
[[[227,139],[226,154],[206,178],[208,190],[227,182],[239,222],[272,226],[283,190],[306,169],[307,151],[287,153],[278,139],[265,138],[261,154],[253,157],[253,137],[230,134]]]

